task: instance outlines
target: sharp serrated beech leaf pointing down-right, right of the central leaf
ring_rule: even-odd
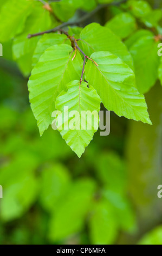
[[[151,124],[145,98],[134,87],[134,73],[120,58],[110,52],[95,52],[88,60],[85,78],[96,89],[109,111]],[[92,76],[93,74],[93,76]]]

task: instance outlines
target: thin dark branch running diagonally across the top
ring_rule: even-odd
[[[42,0],[40,0],[42,1]],[[122,3],[127,2],[127,0],[122,0],[121,2],[118,3],[109,3],[109,4],[102,4],[102,5],[98,5],[98,7],[96,7],[93,11],[91,11],[90,13],[87,13],[85,15],[83,15],[80,19],[76,20],[76,21],[67,21],[67,22],[63,22],[62,24],[60,24],[59,26],[49,29],[47,31],[43,31],[40,33],[36,33],[36,34],[29,34],[28,38],[33,38],[34,36],[38,36],[38,35],[43,35],[43,34],[48,34],[48,33],[54,33],[56,31],[59,31],[60,29],[62,29],[63,27],[68,27],[68,26],[73,26],[73,25],[78,25],[79,23],[82,23],[83,21],[89,19],[89,17],[93,16],[95,13],[97,13],[99,10],[106,8],[110,5],[120,5]]]

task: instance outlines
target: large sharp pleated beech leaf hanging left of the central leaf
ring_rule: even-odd
[[[51,124],[51,113],[55,110],[55,100],[64,86],[80,79],[83,60],[73,48],[66,44],[49,47],[41,56],[29,78],[29,99],[37,120],[40,135]]]

